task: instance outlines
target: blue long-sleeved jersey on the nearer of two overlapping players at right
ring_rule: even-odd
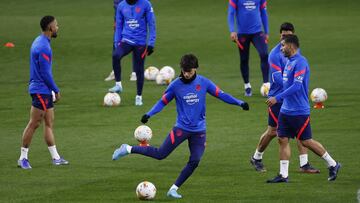
[[[290,57],[283,73],[283,92],[276,100],[283,100],[281,113],[287,115],[310,115],[309,104],[310,67],[299,51]]]

